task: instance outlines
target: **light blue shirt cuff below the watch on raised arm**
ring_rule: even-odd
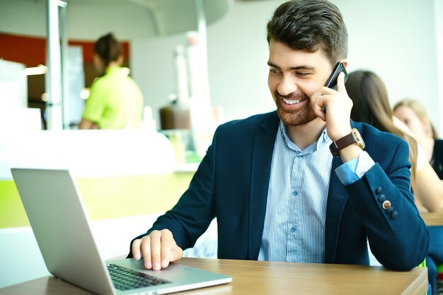
[[[369,156],[366,151],[362,151],[358,158],[338,166],[338,168],[335,169],[335,173],[343,185],[350,185],[362,178],[364,173],[372,168],[374,164],[371,156]]]

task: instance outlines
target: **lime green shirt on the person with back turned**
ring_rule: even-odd
[[[142,125],[143,105],[137,84],[115,66],[92,83],[83,117],[100,129],[134,129]]]

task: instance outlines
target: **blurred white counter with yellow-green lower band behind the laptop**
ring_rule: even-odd
[[[9,134],[0,139],[0,228],[28,226],[11,167],[71,170],[93,220],[164,212],[176,204],[196,169],[176,172],[173,146],[157,132]]]

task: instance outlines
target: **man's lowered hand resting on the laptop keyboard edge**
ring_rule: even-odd
[[[183,250],[168,229],[152,231],[148,236],[135,240],[131,250],[135,260],[143,258],[144,267],[148,270],[161,270],[168,267],[169,262],[183,257]]]

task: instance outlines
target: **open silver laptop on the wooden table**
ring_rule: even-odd
[[[47,270],[55,277],[96,294],[168,294],[232,281],[173,262],[160,271],[144,269],[142,260],[104,262],[69,170],[11,168],[11,173]]]

